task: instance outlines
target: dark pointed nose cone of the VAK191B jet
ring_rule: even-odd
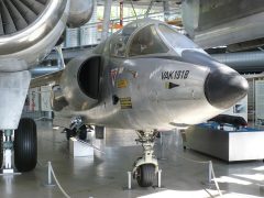
[[[248,94],[249,84],[234,70],[224,68],[211,72],[205,84],[207,100],[218,109],[228,109]]]

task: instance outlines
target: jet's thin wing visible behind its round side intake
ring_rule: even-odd
[[[47,75],[44,75],[44,76],[33,78],[31,80],[30,87],[34,88],[34,87],[40,87],[40,86],[53,82],[53,81],[57,81],[61,78],[61,76],[63,74],[63,70],[64,69],[57,70],[55,73],[51,73],[51,74],[47,74]]]

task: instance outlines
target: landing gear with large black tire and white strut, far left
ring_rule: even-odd
[[[14,131],[14,141],[12,135]],[[22,118],[16,130],[1,131],[0,136],[4,135],[4,142],[1,140],[1,164],[3,173],[12,173],[12,150],[14,151],[14,166],[19,172],[30,172],[35,168],[37,161],[36,144],[36,124],[34,120]],[[3,153],[3,154],[2,154]]]

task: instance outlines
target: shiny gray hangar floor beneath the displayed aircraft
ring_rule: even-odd
[[[163,133],[163,144],[161,140],[156,141],[156,155],[163,169],[163,188],[140,188],[133,180],[133,189],[127,190],[127,172],[132,169],[134,160],[142,153],[141,146],[133,142],[134,134],[108,131],[109,141],[101,143],[106,154],[96,152],[95,158],[74,158],[69,155],[68,142],[61,130],[53,130],[51,122],[37,122],[37,167],[19,176],[1,176],[1,198],[64,197],[57,186],[43,186],[47,178],[48,161],[61,185],[73,198],[219,197],[216,186],[206,185],[208,165],[193,162],[210,160],[223,197],[264,197],[262,161],[227,164],[194,151],[184,151],[177,132]]]

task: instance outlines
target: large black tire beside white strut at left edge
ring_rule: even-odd
[[[34,120],[22,118],[14,132],[14,165],[19,172],[30,172],[37,161],[36,124]]]

